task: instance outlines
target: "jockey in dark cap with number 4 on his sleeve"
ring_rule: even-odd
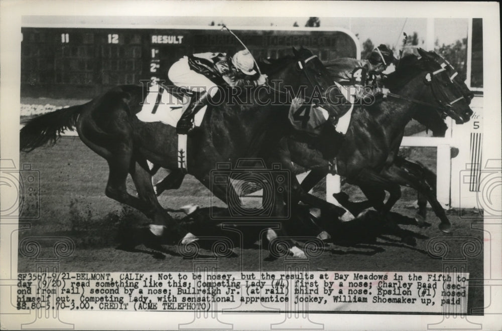
[[[364,86],[373,87],[373,93],[386,93],[380,86],[382,72],[395,61],[394,53],[385,45],[376,47],[364,60],[339,58],[325,63],[334,81],[340,85],[353,86],[356,98],[365,94]]]

